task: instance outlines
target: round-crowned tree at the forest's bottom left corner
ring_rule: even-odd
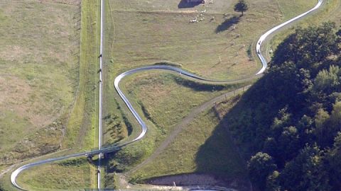
[[[277,166],[269,154],[259,152],[251,157],[248,168],[251,181],[260,190],[264,190],[266,187],[266,178],[276,170]]]

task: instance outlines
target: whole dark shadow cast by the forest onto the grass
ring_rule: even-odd
[[[249,100],[254,95],[259,95],[257,88],[254,86],[251,86],[227,114],[222,117],[220,123],[212,131],[205,143],[200,146],[195,155],[196,173],[215,175],[227,185],[235,185],[234,188],[237,190],[250,190],[251,183],[247,173],[247,160],[250,151],[248,146],[236,139],[239,136],[234,134],[230,128],[233,125],[234,118],[239,119],[243,117],[242,115],[251,114],[249,113],[249,110],[251,110]],[[211,112],[215,112],[214,108],[211,109]],[[248,125],[252,126],[251,123]],[[234,126],[237,126],[240,131],[247,128],[247,125],[242,123],[234,124]]]

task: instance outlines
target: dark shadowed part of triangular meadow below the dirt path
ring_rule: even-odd
[[[220,122],[212,136],[200,146],[195,162],[196,173],[214,175],[237,190],[249,190],[247,163],[238,154],[224,122]]]

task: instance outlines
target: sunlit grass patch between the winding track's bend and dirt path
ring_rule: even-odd
[[[163,136],[203,100],[241,86],[206,85],[158,71],[129,76],[122,84],[136,108],[141,108],[142,116],[151,121]]]

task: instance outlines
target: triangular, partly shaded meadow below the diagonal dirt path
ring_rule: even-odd
[[[234,105],[233,101],[225,104]],[[137,170],[131,179],[141,183],[163,175],[205,173],[228,182],[247,178],[245,169],[229,132],[211,108],[198,115],[162,154]]]

